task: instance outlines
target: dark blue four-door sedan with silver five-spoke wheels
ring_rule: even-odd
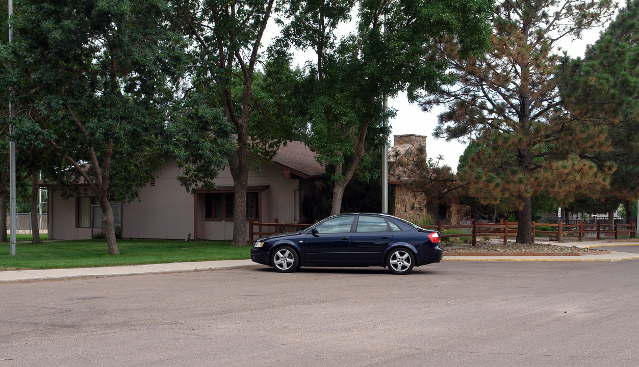
[[[289,273],[300,266],[381,266],[407,274],[441,262],[439,233],[388,214],[337,214],[305,230],[255,241],[250,259]]]

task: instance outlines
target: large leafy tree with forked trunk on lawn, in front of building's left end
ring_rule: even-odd
[[[20,2],[3,53],[16,134],[58,152],[50,177],[88,186],[119,253],[110,200],[131,200],[160,163],[158,138],[182,65],[181,34],[164,0]]]

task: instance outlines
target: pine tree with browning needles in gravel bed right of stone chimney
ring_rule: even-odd
[[[442,42],[438,57],[452,57],[457,84],[413,98],[426,109],[447,105],[436,137],[473,138],[481,146],[458,175],[482,203],[510,206],[530,223],[538,193],[569,202],[607,187],[610,170],[579,155],[606,150],[606,128],[581,123],[562,107],[554,73],[562,59],[557,42],[602,24],[613,10],[612,1],[502,1],[486,57],[459,57],[455,40]],[[520,226],[517,241],[532,242],[530,226]]]

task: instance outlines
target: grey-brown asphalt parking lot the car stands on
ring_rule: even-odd
[[[0,284],[4,366],[638,366],[639,260]]]

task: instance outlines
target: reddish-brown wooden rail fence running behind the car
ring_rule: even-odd
[[[318,221],[315,220],[314,223]],[[596,234],[597,239],[601,239],[601,236],[615,236],[618,239],[619,236],[630,236],[636,238],[635,223],[631,224],[605,224],[597,222],[596,225],[589,225],[581,221],[578,224],[571,223],[531,223],[532,225],[532,240],[535,241],[535,237],[539,234],[546,234],[550,241],[562,242],[564,236],[578,236],[579,241],[583,237],[592,234]],[[268,236],[270,234],[280,233],[281,228],[298,228],[304,229],[310,227],[310,224],[299,223],[279,223],[279,220],[275,218],[272,223],[258,222],[252,219],[249,220],[249,240],[251,243],[255,241],[255,236],[258,238],[261,236]],[[273,228],[273,230],[266,230],[266,228]],[[517,236],[517,230],[519,223],[516,221],[500,221],[500,223],[477,223],[475,220],[471,220],[467,225],[442,225],[442,221],[437,221],[436,225],[420,225],[422,228],[435,229],[440,232],[440,237],[472,237],[472,245],[477,246],[477,237],[502,237],[504,244],[508,242],[508,237]],[[555,230],[537,230],[537,227],[551,227]],[[446,233],[442,232],[449,229],[466,229],[468,233]]]

